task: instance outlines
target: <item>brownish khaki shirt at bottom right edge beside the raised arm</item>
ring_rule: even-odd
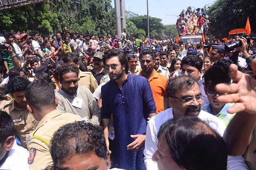
[[[254,131],[251,135],[251,142],[243,156],[248,168],[250,170],[256,170],[256,126],[254,127]]]

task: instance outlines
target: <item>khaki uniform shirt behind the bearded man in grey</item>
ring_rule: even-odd
[[[98,83],[91,72],[82,72],[79,70],[78,86],[87,87],[93,93],[98,87]]]

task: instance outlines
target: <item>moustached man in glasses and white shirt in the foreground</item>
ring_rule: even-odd
[[[163,123],[169,119],[182,116],[198,116],[209,121],[211,128],[223,135],[225,124],[216,116],[201,110],[204,97],[196,79],[190,76],[181,76],[170,79],[166,87],[168,102],[172,108],[153,116],[147,124],[147,133],[144,149],[144,162],[147,170],[157,170],[157,163],[152,156],[157,148],[157,133]]]

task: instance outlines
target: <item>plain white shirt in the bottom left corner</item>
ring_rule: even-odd
[[[16,140],[8,153],[5,162],[0,165],[0,170],[29,170],[28,150],[17,145]]]

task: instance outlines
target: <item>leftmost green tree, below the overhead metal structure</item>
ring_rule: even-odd
[[[60,28],[57,14],[50,11],[50,2],[1,11],[0,20],[1,31],[38,30],[49,35]]]

